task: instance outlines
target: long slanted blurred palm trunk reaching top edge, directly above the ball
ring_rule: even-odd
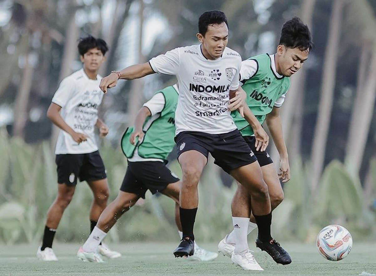
[[[318,106],[317,123],[311,152],[313,167],[311,183],[312,191],[314,191],[318,186],[324,164],[326,141],[333,106],[335,74],[343,5],[343,0],[334,1],[331,21],[329,25],[329,34],[324,56],[325,62],[322,77],[323,82],[321,84],[320,103]]]

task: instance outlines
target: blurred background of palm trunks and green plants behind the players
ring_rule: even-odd
[[[339,223],[355,239],[376,237],[376,0],[28,0],[0,1],[0,240],[41,239],[56,196],[53,149],[58,130],[45,116],[59,82],[81,68],[79,37],[110,47],[100,74],[146,62],[174,47],[197,43],[202,12],[219,9],[229,21],[229,47],[243,59],[274,53],[282,24],[299,16],[315,48],[291,77],[282,107],[292,179],[274,211],[274,235],[311,242]],[[120,81],[104,97],[100,116],[110,127],[98,140],[114,199],[126,170],[119,149],[125,128],[154,91],[175,77]],[[269,147],[275,164],[279,158]],[[170,168],[180,168],[170,156]],[[92,195],[79,188],[56,237],[83,241]],[[232,179],[208,162],[200,183],[199,240],[217,241],[231,228]],[[137,213],[133,215],[133,213]],[[148,194],[110,231],[114,241],[168,240],[176,235],[174,203]]]

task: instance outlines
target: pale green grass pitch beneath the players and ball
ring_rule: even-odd
[[[0,275],[359,275],[362,271],[376,274],[376,244],[355,243],[346,259],[331,262],[322,258],[314,245],[283,243],[293,262],[275,264],[265,253],[255,250],[256,260],[265,271],[245,271],[219,256],[212,262],[175,259],[172,251],[176,243],[123,243],[110,244],[123,253],[104,264],[84,263],[76,258],[79,244],[55,243],[58,262],[41,262],[35,257],[37,244],[0,245]],[[216,250],[216,244],[202,244]]]

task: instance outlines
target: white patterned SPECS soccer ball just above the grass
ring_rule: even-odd
[[[349,255],[352,249],[352,237],[347,229],[340,225],[328,225],[317,235],[317,249],[329,261],[340,261]]]

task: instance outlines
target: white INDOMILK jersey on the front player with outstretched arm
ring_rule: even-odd
[[[176,134],[219,134],[237,129],[227,110],[229,91],[239,87],[241,57],[237,52],[226,47],[220,58],[210,60],[198,44],[173,49],[149,63],[157,73],[175,75],[179,83]]]

